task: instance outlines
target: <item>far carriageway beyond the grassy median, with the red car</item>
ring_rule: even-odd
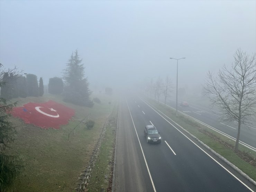
[[[176,101],[174,100],[168,100],[167,101],[168,106],[173,107],[176,109]],[[203,123],[216,128],[225,134],[236,138],[237,137],[237,122],[228,123],[225,121],[221,121],[220,117],[213,112],[210,111],[210,109],[195,106],[194,104],[189,103],[189,107],[182,107],[178,105],[178,110],[195,118]],[[202,109],[203,108],[203,109]],[[256,149],[256,126],[255,124],[250,125],[250,127],[247,127],[245,125],[241,125],[241,131],[240,131],[240,141],[247,144],[248,146],[252,147],[254,150]]]

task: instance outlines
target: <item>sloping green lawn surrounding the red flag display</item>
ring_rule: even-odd
[[[13,187],[17,191],[73,191],[81,171],[88,165],[92,150],[100,131],[109,115],[109,102],[115,98],[105,94],[97,96],[101,103],[94,103],[93,108],[77,106],[62,101],[62,96],[46,94],[44,97],[18,98],[18,106],[28,102],[46,102],[54,100],[75,110],[75,116],[59,130],[41,129],[25,124],[23,120],[11,117],[10,121],[17,127],[17,137],[10,143],[6,153],[25,157],[24,172],[15,179]],[[14,102],[16,100],[12,100]],[[80,123],[79,120],[91,113],[95,125],[92,129],[84,124],[77,126],[74,132],[68,133]]]

